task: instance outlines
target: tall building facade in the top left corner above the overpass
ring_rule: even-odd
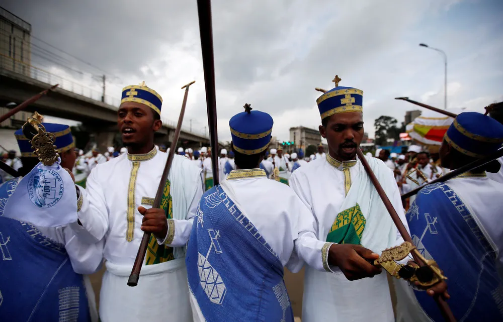
[[[0,7],[0,68],[30,76],[31,25]]]

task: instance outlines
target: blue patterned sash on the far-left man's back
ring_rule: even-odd
[[[2,217],[17,182],[0,186],[0,320],[90,321],[82,275],[73,271],[64,245]]]

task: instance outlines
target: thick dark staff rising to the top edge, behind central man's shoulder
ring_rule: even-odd
[[[208,129],[211,147],[211,169],[213,171],[213,185],[217,185],[219,182],[217,103],[215,94],[215,64],[213,58],[213,30],[211,27],[210,0],[197,0],[197,13],[199,16],[199,33],[201,35],[201,51],[203,54],[206,111],[208,113]]]

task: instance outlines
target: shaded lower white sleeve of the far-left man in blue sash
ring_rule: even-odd
[[[94,244],[83,243],[72,229],[64,228],[65,249],[71,266],[77,274],[93,274],[103,262],[104,240]]]

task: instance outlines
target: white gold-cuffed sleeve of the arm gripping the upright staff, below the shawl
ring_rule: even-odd
[[[187,244],[192,230],[192,222],[199,206],[199,200],[201,200],[201,196],[203,195],[200,174],[201,171],[199,170],[193,179],[192,186],[194,188],[192,189],[192,193],[190,191],[186,193],[186,200],[190,202],[187,205],[186,220],[168,219],[166,237],[164,240],[157,239],[158,244],[170,247],[183,247]]]

